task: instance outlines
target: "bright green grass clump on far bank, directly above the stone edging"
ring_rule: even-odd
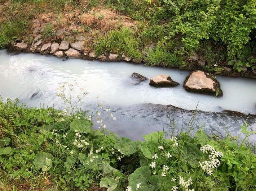
[[[132,29],[123,27],[110,31],[105,37],[97,40],[95,45],[96,56],[104,53],[125,53],[129,57],[141,59],[143,57],[141,52],[138,52],[140,39],[134,37]]]

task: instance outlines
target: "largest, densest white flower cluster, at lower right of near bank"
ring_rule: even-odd
[[[223,153],[216,151],[214,147],[210,145],[204,145],[200,148],[203,153],[209,154],[209,161],[205,160],[203,162],[199,162],[200,167],[209,175],[212,175],[213,169],[217,168],[220,165],[220,161],[217,159],[218,157],[222,157]]]

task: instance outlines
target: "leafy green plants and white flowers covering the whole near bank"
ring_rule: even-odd
[[[241,125],[239,137],[208,136],[193,119],[176,134],[143,135],[131,141],[107,130],[109,109],[81,111],[87,92],[72,98],[74,84],[57,95],[65,109],[27,108],[0,99],[1,190],[255,190],[256,154]]]

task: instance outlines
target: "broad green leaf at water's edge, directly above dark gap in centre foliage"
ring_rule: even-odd
[[[131,155],[140,149],[136,142],[127,137],[121,138],[120,143],[115,143],[114,148],[120,150],[125,156]]]

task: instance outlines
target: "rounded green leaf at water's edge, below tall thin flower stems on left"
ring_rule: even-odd
[[[91,131],[91,122],[83,117],[74,119],[70,124],[70,130],[80,133],[89,133]]]

